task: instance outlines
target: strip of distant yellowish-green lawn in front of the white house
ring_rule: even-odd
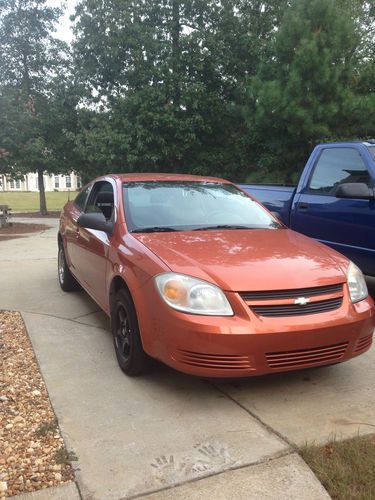
[[[47,210],[51,212],[60,211],[65,203],[76,197],[76,192],[67,191],[49,191],[46,193]],[[6,192],[0,193],[0,205],[8,205],[12,212],[38,212],[39,211],[39,193],[24,192]]]

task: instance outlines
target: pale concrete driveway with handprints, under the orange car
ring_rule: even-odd
[[[374,432],[374,350],[258,379],[127,378],[107,317],[60,290],[46,223],[0,243],[0,307],[22,312],[84,499],[327,498],[293,444]]]

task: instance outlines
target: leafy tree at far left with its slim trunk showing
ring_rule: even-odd
[[[53,36],[60,15],[46,0],[0,0],[3,163],[13,176],[38,173],[42,214],[47,213],[43,173],[72,169],[66,160],[77,98],[68,48]]]

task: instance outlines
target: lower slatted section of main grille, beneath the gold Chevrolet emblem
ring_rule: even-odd
[[[334,311],[341,307],[342,297],[328,300],[318,300],[306,305],[281,304],[252,306],[251,309],[259,316],[281,317],[281,316],[304,316],[306,314],[319,314],[327,311]]]

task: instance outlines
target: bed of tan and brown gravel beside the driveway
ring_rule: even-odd
[[[0,498],[72,481],[69,453],[22,317],[0,312]]]

